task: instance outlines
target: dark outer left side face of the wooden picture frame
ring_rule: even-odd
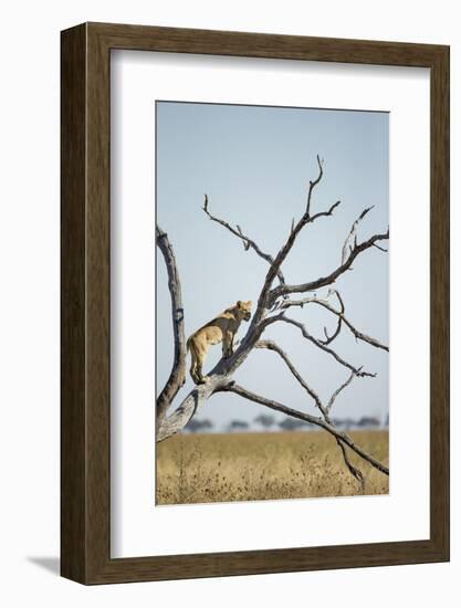
[[[61,574],[84,580],[85,495],[85,27],[61,57]]]

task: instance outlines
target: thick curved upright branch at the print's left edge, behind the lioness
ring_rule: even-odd
[[[171,297],[171,317],[175,339],[175,355],[169,378],[157,398],[157,418],[163,419],[186,381],[186,336],[182,307],[181,282],[179,279],[176,256],[169,242],[168,234],[156,227],[157,247],[164,255],[168,273],[168,289]]]

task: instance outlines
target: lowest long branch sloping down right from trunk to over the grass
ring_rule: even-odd
[[[268,407],[269,409],[273,409],[275,411],[281,411],[282,413],[285,413],[286,416],[291,416],[292,418],[297,418],[298,420],[304,420],[304,422],[310,422],[311,424],[315,424],[317,427],[321,427],[325,431],[329,432],[329,434],[333,434],[335,438],[337,438],[339,441],[345,443],[348,448],[350,448],[355,453],[357,453],[360,458],[366,460],[371,467],[380,471],[381,473],[385,473],[386,475],[389,474],[389,469],[385,467],[381,462],[376,460],[374,457],[368,454],[365,450],[363,450],[359,445],[354,443],[353,439],[348,437],[346,433],[343,433],[335,429],[332,424],[328,424],[328,422],[325,422],[325,420],[322,420],[321,418],[316,418],[315,416],[311,416],[310,413],[304,413],[302,411],[295,410],[293,408],[289,408],[284,406],[283,403],[279,403],[277,401],[274,401],[272,399],[266,399],[265,397],[261,397],[260,395],[256,395],[255,392],[251,392],[250,390],[247,390],[245,388],[235,385],[235,384],[229,384],[226,385],[221,389],[222,391],[230,391],[234,392],[235,395],[240,395],[240,397],[244,397],[245,399],[253,401],[255,403],[260,403],[262,406]]]

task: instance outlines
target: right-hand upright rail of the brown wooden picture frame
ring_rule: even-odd
[[[450,51],[431,67],[430,513],[431,538],[450,552]]]

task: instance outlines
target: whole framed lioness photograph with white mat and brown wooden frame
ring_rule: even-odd
[[[449,559],[449,48],[62,32],[62,576]]]

